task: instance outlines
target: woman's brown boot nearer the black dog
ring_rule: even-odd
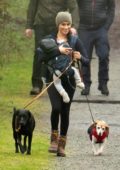
[[[58,131],[53,130],[51,133],[51,145],[48,149],[50,153],[57,153],[58,149]]]

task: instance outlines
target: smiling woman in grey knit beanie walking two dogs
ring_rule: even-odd
[[[78,36],[74,36],[71,34],[71,26],[72,26],[72,17],[71,14],[67,11],[58,12],[56,16],[56,27],[57,32],[51,32],[51,34],[47,37],[53,39],[58,45],[57,47],[52,48],[49,51],[49,58],[52,60],[59,55],[68,55],[71,54],[71,48],[73,51],[73,59],[79,60],[82,65],[87,65],[89,63],[87,52],[78,38]],[[72,39],[75,37],[75,41]],[[42,39],[43,40],[43,39]],[[41,40],[41,41],[42,41]],[[64,47],[63,45],[59,45],[60,42],[68,43],[69,48]],[[52,62],[52,61],[51,61]],[[47,83],[51,83],[53,81],[53,74],[48,69],[47,70]],[[71,102],[73,99],[73,95],[76,88],[74,71],[69,76],[63,74],[61,76],[62,86],[67,92],[70,101],[65,103],[63,101],[62,96],[57,91],[54,83],[48,88],[48,95],[51,102],[51,142],[49,147],[50,153],[56,153],[57,156],[65,157],[65,146],[67,140],[67,132],[69,127],[69,114]]]

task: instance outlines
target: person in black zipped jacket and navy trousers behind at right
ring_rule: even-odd
[[[93,48],[99,58],[98,90],[109,95],[109,51],[108,31],[113,23],[115,0],[77,0],[79,8],[78,35],[82,40],[89,59],[92,59]],[[91,62],[82,67],[85,89],[81,95],[89,95],[91,86]]]

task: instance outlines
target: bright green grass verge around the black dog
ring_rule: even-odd
[[[42,132],[42,126],[38,123],[44,112],[48,113],[46,118],[50,119],[46,95],[46,102],[43,97],[28,108],[36,119],[32,154],[15,153],[11,127],[13,107],[22,108],[32,99],[29,95],[32,55],[27,55],[0,68],[0,170],[46,170],[53,158],[48,153],[49,136]]]

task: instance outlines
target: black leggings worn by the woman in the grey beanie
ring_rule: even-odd
[[[51,130],[59,130],[59,119],[60,119],[60,135],[66,136],[69,127],[69,112],[72,102],[72,98],[75,92],[75,81],[74,78],[64,78],[62,85],[70,97],[69,103],[64,103],[62,97],[57,92],[54,85],[48,89],[48,95],[52,105],[51,112]],[[74,87],[74,88],[73,88]]]

